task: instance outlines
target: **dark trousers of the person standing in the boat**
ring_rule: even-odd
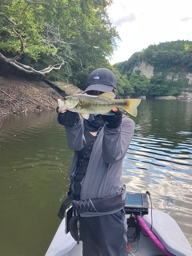
[[[83,256],[126,256],[124,210],[101,217],[80,218]]]

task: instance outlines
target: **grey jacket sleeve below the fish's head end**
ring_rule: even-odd
[[[78,124],[66,127],[66,140],[70,150],[82,150],[85,144],[83,120],[80,118]]]

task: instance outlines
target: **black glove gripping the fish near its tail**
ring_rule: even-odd
[[[106,122],[106,126],[110,129],[118,128],[122,123],[122,110],[118,112],[110,111],[111,115],[102,115],[102,119]]]

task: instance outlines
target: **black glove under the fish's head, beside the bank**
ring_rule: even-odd
[[[58,110],[57,110],[58,112]],[[58,113],[58,123],[62,126],[72,127],[75,126],[79,121],[79,115],[75,112],[66,110],[65,113]]]

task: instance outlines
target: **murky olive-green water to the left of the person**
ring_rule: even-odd
[[[72,152],[55,112],[6,118],[0,130],[0,248],[4,256],[42,256],[59,224]],[[10,246],[11,244],[11,246]]]

